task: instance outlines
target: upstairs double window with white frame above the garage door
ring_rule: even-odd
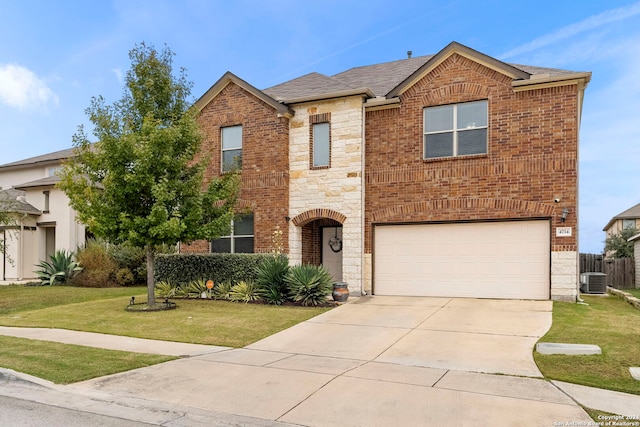
[[[487,153],[487,101],[424,109],[424,158]]]

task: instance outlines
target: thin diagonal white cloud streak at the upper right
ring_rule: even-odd
[[[507,59],[521,55],[523,53],[531,52],[542,47],[558,43],[562,40],[584,33],[586,31],[594,30],[598,27],[602,27],[613,22],[623,21],[638,14],[640,14],[640,3],[635,3],[631,6],[621,7],[618,9],[607,10],[598,15],[590,16],[589,18],[584,19],[580,22],[567,25],[566,27],[560,28],[558,31],[555,31],[553,33],[545,34],[544,36],[538,37],[537,39],[534,39],[529,43],[525,43],[521,46],[511,49],[508,52],[503,53],[502,55],[498,55],[498,58]]]

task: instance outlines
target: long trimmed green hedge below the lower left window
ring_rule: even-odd
[[[271,254],[171,254],[155,258],[155,282],[184,285],[193,280],[215,283],[256,280],[256,267]]]

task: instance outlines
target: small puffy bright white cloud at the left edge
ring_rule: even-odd
[[[33,71],[16,64],[0,65],[0,102],[20,110],[58,104],[58,96]]]

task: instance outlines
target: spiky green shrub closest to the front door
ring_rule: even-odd
[[[323,266],[293,266],[289,269],[286,282],[291,299],[304,306],[326,303],[333,290],[331,274]]]

